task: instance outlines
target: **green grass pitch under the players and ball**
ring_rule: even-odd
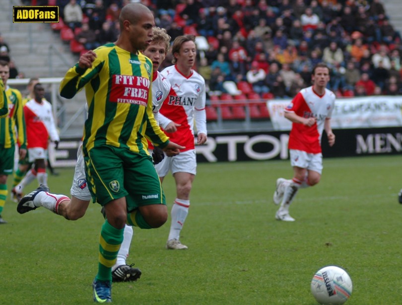
[[[164,248],[169,223],[134,228],[128,263],[142,277],[113,284],[113,303],[314,305],[314,273],[338,265],[353,281],[346,304],[401,304],[401,169],[399,155],[324,158],[321,182],[299,191],[296,222],[285,223],[274,218],[272,193],[276,178],[292,175],[288,160],[200,163],[181,237],[189,249]],[[50,189],[69,194],[73,169],[58,171]],[[170,210],[172,177],[163,185]],[[100,207],[76,222],[15,208],[8,200],[2,213],[0,304],[93,304]]]

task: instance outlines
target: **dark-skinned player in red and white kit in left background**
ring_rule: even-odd
[[[45,98],[45,89],[41,83],[34,86],[35,98],[28,101],[24,106],[25,124],[27,130],[29,162],[34,162],[32,170],[36,172],[36,178],[40,185],[48,185],[48,174],[46,173],[46,159],[49,139],[59,145],[59,134],[53,118],[52,105]],[[32,179],[26,175],[22,181],[15,186],[13,192],[21,196],[23,188]]]

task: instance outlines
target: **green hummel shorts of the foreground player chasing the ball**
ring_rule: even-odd
[[[158,174],[147,154],[102,146],[84,155],[89,191],[101,206],[126,197],[129,212],[140,206],[166,205]]]

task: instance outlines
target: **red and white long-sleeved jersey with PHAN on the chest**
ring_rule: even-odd
[[[171,141],[185,146],[186,149],[183,151],[195,149],[194,120],[196,120],[197,133],[207,134],[205,80],[194,70],[190,76],[184,76],[176,66],[165,68],[162,74],[169,79],[171,91],[160,108],[160,120],[162,121],[164,116],[170,121],[181,124],[176,132],[166,133],[166,135]]]

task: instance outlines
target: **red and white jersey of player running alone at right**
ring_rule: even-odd
[[[324,95],[318,95],[313,86],[301,89],[286,107],[285,112],[293,112],[303,118],[314,117],[316,123],[305,126],[293,123],[289,135],[289,149],[307,153],[321,153],[321,136],[325,120],[331,118],[335,106],[335,94],[325,89]]]

